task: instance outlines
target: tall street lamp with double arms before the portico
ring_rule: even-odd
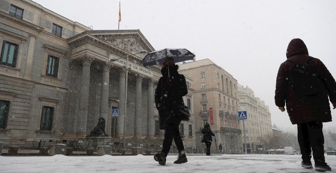
[[[146,50],[142,50],[142,51],[139,51],[137,53],[133,53],[133,54],[128,54],[126,56],[123,56],[123,57],[120,57],[119,59],[122,59],[124,57],[126,57],[126,61],[127,61],[127,65],[124,66],[125,69],[126,69],[126,82],[125,82],[125,112],[124,112],[124,132],[123,132],[123,150],[126,152],[126,148],[125,148],[125,144],[126,144],[126,139],[125,139],[125,132],[126,132],[126,117],[127,117],[127,81],[128,81],[128,70],[130,70],[131,68],[129,67],[128,65],[128,56],[131,56],[131,55],[134,55],[134,54],[138,54],[138,53],[147,53]],[[113,60],[109,60],[110,62],[115,62],[119,59],[113,59]]]

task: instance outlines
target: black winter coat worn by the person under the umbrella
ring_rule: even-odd
[[[177,106],[183,105],[182,97],[188,94],[187,83],[184,75],[177,72],[178,66],[169,66],[170,77],[167,67],[161,69],[160,77],[155,90],[155,105],[159,111],[160,129],[165,129],[167,123],[176,123]]]

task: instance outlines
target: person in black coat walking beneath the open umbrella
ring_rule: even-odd
[[[183,141],[179,126],[181,120],[177,118],[178,106],[184,105],[182,97],[188,93],[184,75],[178,73],[178,66],[173,58],[168,57],[163,63],[157,88],[155,90],[155,105],[159,112],[159,128],[164,130],[164,139],[161,153],[156,153],[154,159],[165,165],[167,154],[172,146],[173,138],[179,151],[179,156],[174,163],[185,163]]]

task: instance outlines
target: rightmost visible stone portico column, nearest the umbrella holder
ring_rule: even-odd
[[[148,106],[147,106],[147,137],[154,138],[155,135],[155,120],[154,120],[154,81],[150,80],[148,83]]]

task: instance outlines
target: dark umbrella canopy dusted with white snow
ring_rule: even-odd
[[[187,49],[165,48],[147,53],[141,62],[144,66],[163,64],[167,57],[172,57],[175,63],[192,60],[195,55]]]

